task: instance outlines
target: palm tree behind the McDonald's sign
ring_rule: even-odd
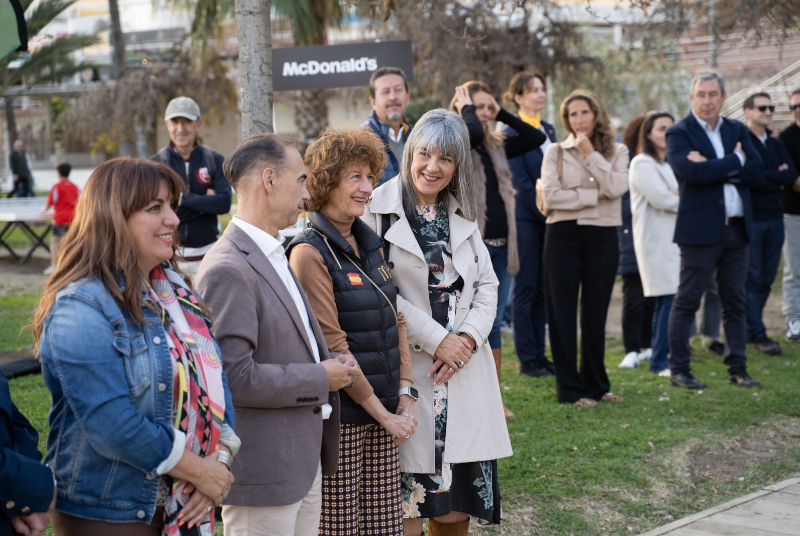
[[[209,34],[219,34],[221,23],[232,17],[234,0],[173,0],[179,8],[194,11],[190,35],[201,52]],[[339,26],[345,13],[343,0],[272,0],[272,6],[292,23],[297,46],[324,45],[327,29]],[[239,42],[239,46],[246,46]],[[270,87],[272,87],[270,83]],[[267,96],[264,96],[267,99]],[[269,96],[270,103],[272,96]],[[269,110],[272,115],[272,110]],[[295,124],[306,141],[316,138],[328,123],[324,90],[298,91],[295,96]]]

